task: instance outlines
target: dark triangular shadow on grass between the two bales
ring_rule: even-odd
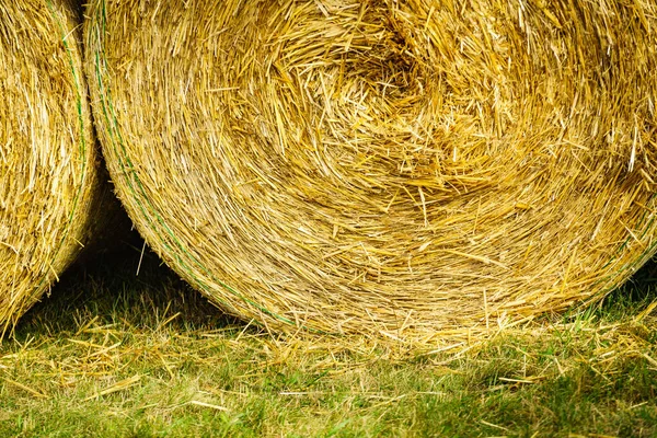
[[[21,318],[14,337],[74,332],[93,319],[97,325],[154,328],[172,316],[168,324],[181,331],[243,325],[193,290],[131,232],[112,252],[92,254],[68,269]]]

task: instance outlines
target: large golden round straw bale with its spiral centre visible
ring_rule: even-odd
[[[94,0],[117,192],[223,310],[428,339],[600,298],[655,252],[643,0]]]

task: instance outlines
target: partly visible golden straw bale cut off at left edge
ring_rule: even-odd
[[[99,214],[79,12],[64,0],[0,7],[0,335],[76,258]]]

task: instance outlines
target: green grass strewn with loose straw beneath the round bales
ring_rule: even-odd
[[[138,264],[73,269],[3,341],[0,436],[657,436],[654,268],[585,312],[400,354],[273,336]]]

